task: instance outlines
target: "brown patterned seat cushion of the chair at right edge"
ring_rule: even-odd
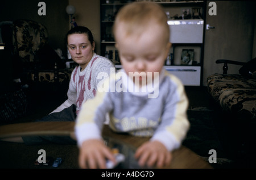
[[[239,74],[212,74],[207,84],[209,94],[224,111],[256,118],[256,79]]]

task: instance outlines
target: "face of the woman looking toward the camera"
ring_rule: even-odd
[[[90,43],[87,34],[68,35],[68,51],[72,60],[84,70],[93,56],[95,43]]]

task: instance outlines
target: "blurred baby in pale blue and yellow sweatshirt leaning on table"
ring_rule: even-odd
[[[75,125],[79,165],[106,168],[106,159],[115,161],[101,136],[106,113],[114,132],[151,137],[135,152],[139,165],[169,165],[189,122],[184,86],[163,67],[171,47],[167,16],[156,3],[130,3],[118,12],[113,32],[122,69],[82,104]]]

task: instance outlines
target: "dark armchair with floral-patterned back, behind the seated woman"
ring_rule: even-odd
[[[25,19],[13,22],[13,52],[15,63],[22,67],[23,82],[69,81],[70,72],[59,72],[64,62],[49,46],[43,24]]]

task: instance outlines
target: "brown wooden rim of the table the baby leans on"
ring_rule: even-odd
[[[18,123],[0,126],[0,139],[16,136],[33,135],[53,135],[70,136],[74,130],[74,122],[34,122]],[[149,139],[149,137],[135,137],[124,134],[117,134],[105,125],[102,131],[103,137],[110,137],[124,144],[138,148],[139,145]],[[202,160],[192,150],[181,145],[179,149],[172,152],[172,162],[170,166],[164,168],[175,169],[211,169],[212,166]]]

